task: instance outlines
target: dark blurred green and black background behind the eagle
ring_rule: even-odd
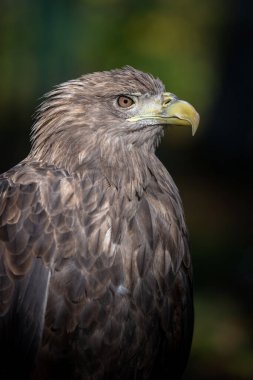
[[[58,83],[133,65],[201,115],[158,150],[183,198],[195,333],[185,379],[253,379],[253,2],[1,0],[0,171],[24,158]]]

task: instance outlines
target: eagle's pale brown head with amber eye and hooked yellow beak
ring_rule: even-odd
[[[39,107],[30,157],[69,172],[82,165],[129,165],[154,153],[167,125],[196,132],[199,115],[151,74],[130,66],[57,86]]]

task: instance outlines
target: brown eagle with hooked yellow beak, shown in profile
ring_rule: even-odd
[[[45,95],[28,156],[0,176],[0,376],[180,379],[193,333],[178,189],[155,150],[199,124],[125,66]]]

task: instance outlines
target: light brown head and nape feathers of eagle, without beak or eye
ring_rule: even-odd
[[[143,158],[148,161],[162,127],[147,127],[138,133],[130,130],[126,119],[115,112],[113,102],[121,94],[152,96],[163,91],[159,79],[130,66],[84,75],[57,86],[45,95],[37,111],[29,159],[69,172],[82,165],[101,167],[110,171],[107,177],[115,184],[114,169],[121,167],[131,192],[135,192],[136,186],[143,187],[148,172]],[[134,177],[138,185],[131,182]]]

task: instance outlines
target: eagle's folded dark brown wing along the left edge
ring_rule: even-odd
[[[47,180],[47,171],[39,173],[36,168],[20,165],[0,178],[3,378],[17,373],[28,376],[42,338],[50,271],[56,252],[50,211],[54,207],[58,207],[58,212],[60,209],[57,197],[53,196],[52,202],[46,204],[45,198],[50,197],[41,196],[43,181]],[[61,235],[62,244],[64,241],[66,236]]]

